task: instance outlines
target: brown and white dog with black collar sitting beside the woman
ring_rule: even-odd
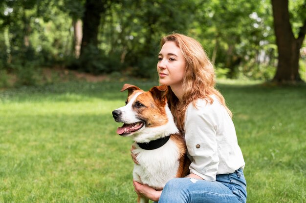
[[[167,104],[167,86],[154,86],[148,92],[124,84],[128,90],[126,105],[112,112],[116,122],[123,122],[117,133],[134,141],[138,164],[134,164],[133,179],[161,190],[173,178],[189,174],[190,160],[186,144],[177,129]],[[138,203],[148,203],[138,198]]]

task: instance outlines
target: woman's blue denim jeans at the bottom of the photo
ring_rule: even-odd
[[[166,183],[158,203],[245,203],[246,181],[242,169],[219,174],[215,182],[175,178]]]

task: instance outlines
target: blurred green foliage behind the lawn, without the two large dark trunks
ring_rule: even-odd
[[[226,77],[271,79],[277,64],[268,0],[104,0],[98,42],[77,59],[73,23],[82,19],[85,2],[1,1],[0,68],[12,71],[30,48],[38,66],[152,78],[159,40],[172,32],[200,41],[216,67],[227,70]],[[305,5],[305,0],[289,1],[296,36],[306,19]]]

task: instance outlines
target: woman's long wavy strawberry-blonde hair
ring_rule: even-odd
[[[224,97],[215,89],[216,79],[214,67],[208,59],[202,45],[193,38],[173,33],[161,39],[160,47],[167,41],[175,42],[176,46],[181,50],[187,64],[183,79],[184,94],[182,100],[178,101],[170,86],[167,94],[169,106],[179,129],[184,131],[185,112],[188,104],[193,102],[193,105],[196,107],[197,99],[205,99],[207,102],[212,103],[213,99],[210,97],[211,95],[217,97],[232,117],[232,112],[226,106]]]

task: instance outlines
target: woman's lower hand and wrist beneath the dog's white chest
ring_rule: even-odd
[[[149,200],[157,202],[161,195],[162,190],[155,190],[153,187],[150,187],[146,184],[141,184],[133,180],[133,185],[135,192],[139,197],[145,197]]]

